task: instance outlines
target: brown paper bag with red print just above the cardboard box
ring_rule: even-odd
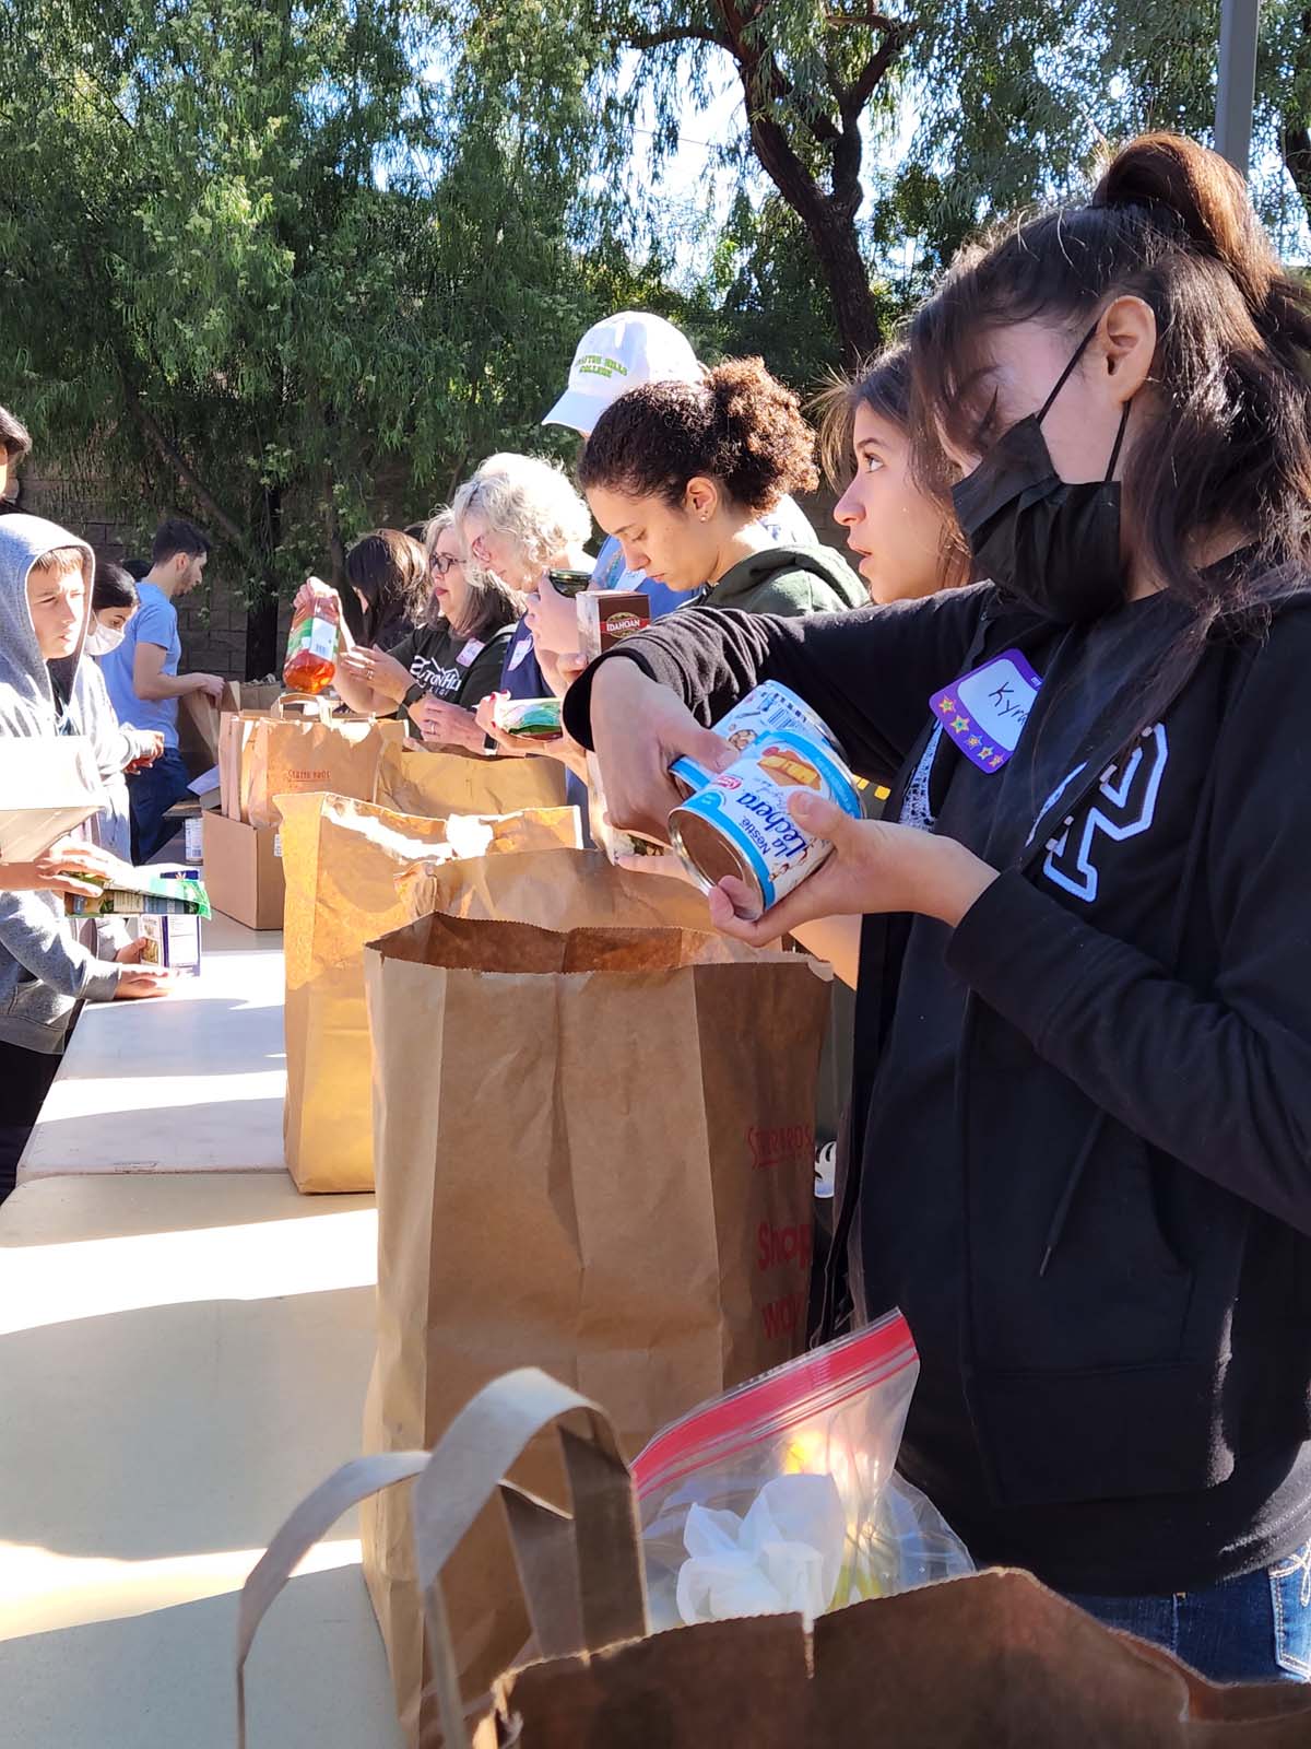
[[[334,717],[318,698],[283,700],[269,714],[227,712],[218,757],[224,813],[276,826],[276,796],[330,792],[372,801],[383,749],[404,735],[395,717]]]

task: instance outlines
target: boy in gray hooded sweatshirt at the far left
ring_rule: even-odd
[[[0,759],[21,759],[24,740],[51,735],[86,733],[94,745],[79,673],[93,579],[82,540],[37,516],[0,519],[0,738],[16,743]],[[117,960],[96,958],[58,892],[0,890],[0,1198],[12,1189],[77,1002],[170,990],[168,974],[138,967],[138,957],[133,943]]]

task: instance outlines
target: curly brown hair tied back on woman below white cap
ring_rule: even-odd
[[[762,516],[788,491],[815,491],[815,432],[801,402],[760,359],[729,359],[701,383],[629,388],[596,422],[579,484],[682,505],[687,483],[717,479]]]

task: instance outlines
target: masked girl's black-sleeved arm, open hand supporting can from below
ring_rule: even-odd
[[[1185,983],[1098,929],[1042,878],[998,873],[937,833],[848,820],[811,794],[792,813],[834,854],[755,922],[732,915],[724,881],[711,920],[762,944],[829,913],[940,918],[951,972],[1092,1105],[1311,1235],[1311,789],[1295,738],[1269,733],[1311,663],[1311,616],[1297,619],[1276,624],[1213,747],[1194,897],[1217,920],[1218,964],[1204,979]]]

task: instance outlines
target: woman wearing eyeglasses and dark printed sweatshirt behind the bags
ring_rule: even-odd
[[[428,523],[427,621],[390,651],[355,644],[337,658],[337,693],[351,710],[409,715],[411,733],[435,747],[482,750],[474,708],[500,684],[521,595],[474,565],[442,509]]]

